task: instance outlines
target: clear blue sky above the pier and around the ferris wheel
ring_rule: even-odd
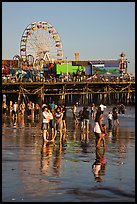
[[[135,74],[135,2],[2,2],[2,59],[20,55],[26,27],[48,21],[58,31],[64,59],[117,60],[124,52]]]

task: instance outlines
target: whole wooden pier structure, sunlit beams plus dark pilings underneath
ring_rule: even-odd
[[[135,103],[135,81],[118,82],[14,82],[2,83],[2,94],[15,97],[18,103],[23,97],[33,97],[39,104],[61,99],[66,104],[90,105],[92,102],[107,105],[116,102]]]

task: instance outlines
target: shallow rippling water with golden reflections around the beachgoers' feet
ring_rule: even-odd
[[[107,114],[112,107],[104,112]],[[3,202],[134,202],[135,201],[135,108],[119,114],[120,127],[106,136],[105,169],[95,179],[94,122],[90,119],[88,141],[82,142],[67,110],[66,143],[43,145],[40,125],[25,119],[13,126],[2,122]],[[101,148],[102,152],[102,148]]]

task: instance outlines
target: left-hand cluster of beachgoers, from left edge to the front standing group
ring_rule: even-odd
[[[35,104],[32,101],[28,101],[27,104],[24,101],[20,104],[10,101],[10,106],[8,107],[6,102],[3,101],[3,115],[6,116],[8,111],[10,113],[10,117],[13,118],[14,126],[16,125],[17,118],[20,116],[24,117],[25,113],[28,118],[40,118],[41,115],[41,132],[44,142],[53,141],[58,132],[60,140],[65,139],[66,106],[64,104],[56,105],[54,101],[52,101],[52,103],[42,104],[42,106],[40,106],[38,103]]]

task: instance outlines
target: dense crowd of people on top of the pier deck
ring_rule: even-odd
[[[4,69],[4,68],[3,68]],[[93,73],[87,75],[84,71],[77,70],[73,73],[60,73],[56,74],[53,71],[47,73],[44,69],[12,69],[8,72],[2,72],[3,83],[15,83],[15,82],[81,82],[81,81],[93,81],[93,82],[120,82],[120,81],[135,81],[135,77],[126,73],[125,75],[100,75]]]

